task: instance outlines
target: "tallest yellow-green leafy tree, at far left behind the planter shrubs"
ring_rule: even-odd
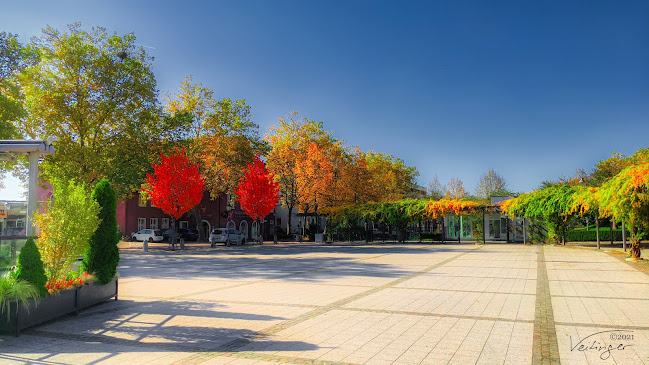
[[[119,199],[140,188],[159,149],[160,110],[151,58],[135,36],[79,24],[43,30],[40,58],[17,76],[26,116],[20,131],[58,137],[45,157],[45,180],[76,180],[92,189],[103,178]]]

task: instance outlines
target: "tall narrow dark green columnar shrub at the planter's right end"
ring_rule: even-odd
[[[92,198],[99,204],[98,217],[101,222],[90,238],[90,246],[86,250],[83,266],[88,273],[94,274],[98,284],[107,284],[115,276],[119,263],[117,198],[115,190],[106,179],[97,184],[92,192]]]

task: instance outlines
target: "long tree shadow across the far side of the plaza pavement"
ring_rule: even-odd
[[[397,269],[384,263],[373,263],[381,255],[463,253],[474,245],[444,246],[243,246],[228,250],[185,251],[187,254],[159,252],[148,255],[123,254],[118,272],[129,277],[159,279],[281,279],[322,281],[339,277],[401,277],[413,271]],[[191,253],[191,254],[190,254]],[[328,256],[331,254],[331,256]],[[336,257],[351,254],[352,257]],[[431,265],[435,264],[431,261]],[[297,278],[294,275],[300,274]],[[302,275],[304,274],[304,275]]]

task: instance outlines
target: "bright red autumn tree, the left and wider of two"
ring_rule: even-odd
[[[200,203],[205,179],[198,165],[185,156],[185,149],[160,157],[160,164],[153,164],[154,175],[147,174],[148,187],[142,191],[149,195],[153,205],[171,216],[171,226],[175,228],[176,219]]]

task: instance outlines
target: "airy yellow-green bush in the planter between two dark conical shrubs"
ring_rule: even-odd
[[[63,280],[72,264],[82,257],[99,226],[99,204],[73,181],[51,181],[53,199],[45,213],[34,217],[40,229],[38,249],[48,284]]]

